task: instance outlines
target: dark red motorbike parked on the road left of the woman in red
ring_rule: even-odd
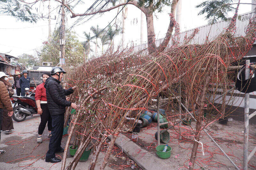
[[[37,114],[36,89],[25,88],[26,96],[12,96],[11,100],[14,103],[12,119],[16,122],[22,122],[27,116]]]

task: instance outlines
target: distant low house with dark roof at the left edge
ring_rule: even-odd
[[[21,71],[21,66],[18,63],[19,58],[12,55],[0,53],[0,71],[11,73],[12,75]]]

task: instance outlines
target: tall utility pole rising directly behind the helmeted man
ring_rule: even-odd
[[[60,67],[65,66],[65,0],[61,5],[61,25],[60,25]]]

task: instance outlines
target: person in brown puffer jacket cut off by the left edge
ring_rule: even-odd
[[[0,81],[0,127],[2,126],[2,119],[3,119],[3,108],[8,110],[8,116],[12,117],[13,108],[12,103],[8,94],[8,90],[4,83]],[[0,140],[1,140],[1,131],[0,131]],[[0,150],[0,155],[4,154],[4,150]]]

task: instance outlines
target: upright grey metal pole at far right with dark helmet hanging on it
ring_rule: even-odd
[[[250,77],[250,60],[245,60],[245,79]],[[244,93],[244,160],[243,169],[248,169],[248,135],[249,135],[250,93]]]

